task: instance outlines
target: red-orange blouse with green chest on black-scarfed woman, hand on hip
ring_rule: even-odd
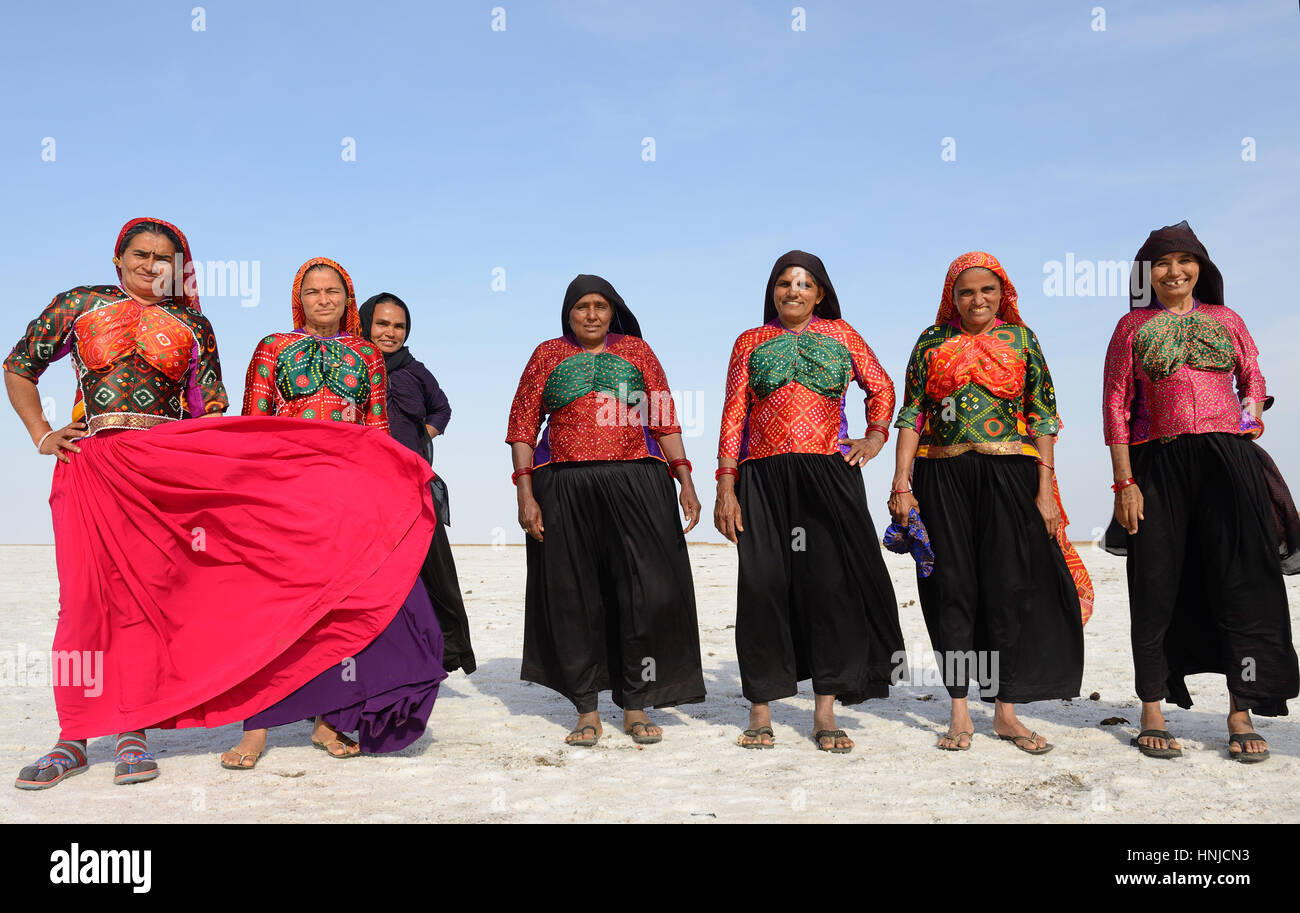
[[[844,320],[814,317],[801,332],[779,320],[745,330],[727,368],[718,456],[848,453],[849,384],[867,393],[867,421],[887,425],[894,388],[875,352]]]

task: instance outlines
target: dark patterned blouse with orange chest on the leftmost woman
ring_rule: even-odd
[[[27,324],[4,369],[36,382],[64,355],[77,371],[87,434],[151,428],[230,404],[212,324],[183,302],[140,304],[118,286],[78,286]]]

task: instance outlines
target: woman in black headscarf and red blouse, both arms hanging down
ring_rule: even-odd
[[[529,358],[506,436],[528,533],[520,675],[577,708],[568,744],[601,737],[602,691],[651,744],[647,708],[705,700],[685,538],[699,499],[663,368],[614,286],[575,278],[560,329]]]

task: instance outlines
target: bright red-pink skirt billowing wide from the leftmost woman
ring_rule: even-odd
[[[385,629],[433,537],[382,432],[285,417],[101,432],[55,470],[65,739],[224,726]]]

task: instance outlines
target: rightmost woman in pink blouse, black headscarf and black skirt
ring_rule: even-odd
[[[1269,747],[1251,711],[1287,715],[1300,672],[1269,485],[1252,443],[1266,401],[1258,352],[1223,306],[1223,277],[1186,221],[1152,232],[1134,273],[1104,386],[1143,702],[1134,744],[1148,757],[1180,756],[1161,701],[1190,708],[1183,678],[1219,672],[1228,756],[1264,761]]]

